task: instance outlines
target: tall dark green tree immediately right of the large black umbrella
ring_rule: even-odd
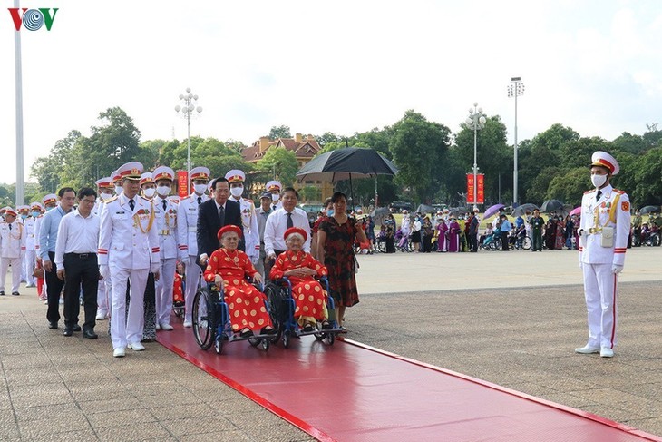
[[[431,198],[433,177],[439,172],[439,160],[448,149],[450,130],[428,122],[420,113],[409,110],[393,126],[389,150],[398,173],[395,182],[411,188],[418,201]]]

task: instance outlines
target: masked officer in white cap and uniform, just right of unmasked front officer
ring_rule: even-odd
[[[179,241],[177,239],[178,206],[171,202],[168,196],[175,179],[175,172],[170,167],[160,166],[151,172],[151,178],[156,183],[157,196],[153,201],[161,250],[161,278],[156,281],[156,328],[171,330],[172,288],[175,280]]]

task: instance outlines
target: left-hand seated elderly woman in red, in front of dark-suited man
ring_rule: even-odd
[[[260,283],[262,277],[248,255],[237,249],[240,236],[238,226],[219,230],[221,248],[209,257],[204,279],[224,291],[232,331],[239,332],[241,338],[276,333],[265,306],[265,295],[246,280],[250,277]]]

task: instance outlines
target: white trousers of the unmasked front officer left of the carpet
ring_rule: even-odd
[[[113,349],[126,347],[127,344],[137,344],[142,340],[142,329],[145,324],[145,287],[149,273],[150,269],[132,270],[111,266]],[[128,318],[126,317],[127,280],[131,283]]]

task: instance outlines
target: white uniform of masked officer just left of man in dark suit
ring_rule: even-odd
[[[196,264],[198,257],[198,206],[209,200],[206,194],[198,195],[193,192],[180,201],[177,211],[177,234],[180,244],[180,260],[186,265],[186,290],[184,293],[185,313],[184,321],[190,321],[193,312],[193,298],[198,290],[198,281],[202,270]]]

